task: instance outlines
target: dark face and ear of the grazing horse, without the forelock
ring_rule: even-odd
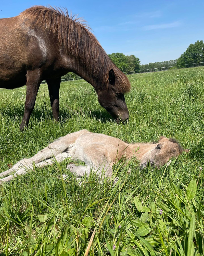
[[[127,77],[125,78],[125,83],[130,83]],[[107,86],[97,90],[98,102],[113,116],[117,123],[129,119],[129,112],[123,93],[124,89],[122,89],[124,87],[121,86],[121,89],[118,88],[120,86],[116,86],[115,74],[113,69],[111,69],[109,71]]]

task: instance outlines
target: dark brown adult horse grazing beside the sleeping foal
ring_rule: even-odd
[[[20,129],[28,127],[40,83],[46,80],[55,120],[59,119],[61,77],[74,72],[90,83],[98,101],[117,122],[129,118],[127,77],[112,63],[89,28],[67,10],[34,6],[0,19],[0,87],[27,84]]]

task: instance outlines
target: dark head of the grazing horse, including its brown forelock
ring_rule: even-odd
[[[113,116],[117,123],[129,119],[124,97],[124,92],[129,90],[130,81],[125,74],[117,69],[109,71],[106,84],[97,90],[98,102]]]

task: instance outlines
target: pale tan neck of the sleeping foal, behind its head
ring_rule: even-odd
[[[135,143],[129,144],[129,149],[133,157],[136,157],[138,160],[141,160],[144,154],[148,153],[150,150],[155,148],[155,144],[150,143]]]

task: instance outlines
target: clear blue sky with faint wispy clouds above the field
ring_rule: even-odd
[[[1,1],[0,18],[33,5],[67,7],[83,17],[108,54],[134,54],[141,64],[178,58],[203,40],[203,0],[171,1]]]

